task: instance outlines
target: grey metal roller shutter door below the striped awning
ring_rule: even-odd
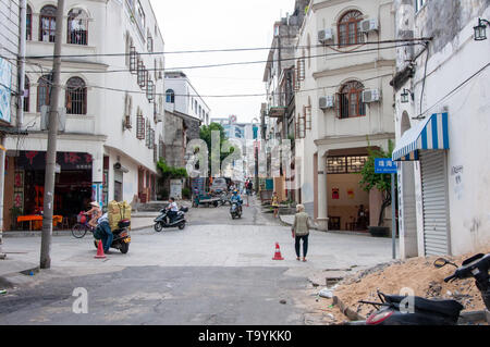
[[[420,151],[426,256],[449,255],[444,151]]]

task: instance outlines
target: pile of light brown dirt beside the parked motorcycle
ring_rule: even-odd
[[[482,247],[476,252],[445,258],[460,265],[465,259],[477,252],[489,253],[490,246]],[[442,269],[434,268],[433,262],[437,258],[413,258],[406,261],[395,261],[356,273],[344,278],[335,288],[334,295],[345,306],[364,318],[373,312],[375,308],[358,301],[379,301],[377,290],[392,295],[454,299],[465,307],[464,311],[483,310],[485,305],[478,288],[475,286],[475,280],[456,280],[452,283],[444,283],[444,277],[453,274],[455,268],[449,264]]]

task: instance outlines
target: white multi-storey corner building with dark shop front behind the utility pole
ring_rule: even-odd
[[[54,213],[73,215],[95,199],[145,202],[156,196],[162,132],[163,38],[148,0],[65,1],[63,23],[56,2],[27,2],[24,126],[28,136],[7,142],[14,178],[5,205],[24,213],[42,207],[56,25],[63,25]],[[115,54],[114,54],[115,53]]]

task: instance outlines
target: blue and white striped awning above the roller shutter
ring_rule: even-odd
[[[393,161],[418,160],[420,149],[449,149],[448,113],[434,113],[406,131],[393,150]]]

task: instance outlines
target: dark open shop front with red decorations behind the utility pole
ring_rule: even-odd
[[[11,181],[13,191],[10,191],[10,196],[5,195],[7,208],[14,209],[16,215],[41,214],[46,152],[21,151],[19,157],[11,157],[9,162],[12,168],[8,181]],[[93,156],[82,152],[58,152],[57,164],[53,214],[62,216],[62,225],[68,227],[93,200]],[[37,222],[35,228],[38,227]]]

